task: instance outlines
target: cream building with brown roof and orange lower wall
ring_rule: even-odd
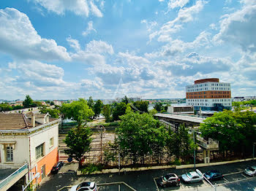
[[[22,177],[10,176],[14,179],[12,182],[0,179],[0,190],[7,190],[20,179],[24,186],[30,181],[38,184],[50,173],[59,160],[59,122],[49,114],[0,113],[1,172],[18,171],[27,166]],[[9,175],[7,171],[6,176]]]

